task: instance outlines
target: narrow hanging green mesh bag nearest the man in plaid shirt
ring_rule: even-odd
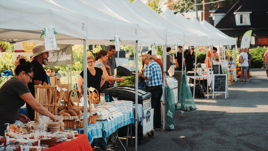
[[[175,98],[173,90],[165,87],[165,103],[166,103],[166,124],[169,130],[174,130],[174,114],[175,114]]]

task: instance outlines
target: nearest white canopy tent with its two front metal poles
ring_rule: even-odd
[[[137,24],[118,23],[115,21],[91,18],[60,7],[54,4],[53,1],[1,1],[0,11],[0,39],[7,39],[6,41],[14,41],[14,39],[19,39],[17,42],[24,41],[24,39],[40,40],[39,37],[44,27],[52,25],[61,35],[60,37],[56,36],[56,40],[68,44],[77,44],[77,40],[79,41],[78,44],[80,44],[80,41],[83,40],[84,54],[86,54],[86,39],[97,40],[99,43],[105,41],[105,44],[110,44],[110,40],[114,39],[115,34],[121,35],[121,40],[126,44],[128,44],[128,42],[135,44],[137,51]],[[87,24],[91,22],[101,24]],[[107,23],[113,23],[118,26],[108,28]],[[82,25],[84,25],[84,30]],[[106,32],[109,34],[106,34]],[[84,55],[83,61],[84,70],[87,70],[86,55]],[[137,72],[138,69],[136,69],[136,73]],[[86,72],[84,72],[84,77],[87,77]],[[138,81],[138,76],[136,76],[136,81]],[[138,84],[136,83],[136,87],[137,86]],[[87,79],[84,80],[84,87],[84,95],[86,96]],[[137,94],[136,91],[136,102],[138,101]],[[84,98],[84,104],[87,104],[86,97]],[[85,114],[87,113],[86,109],[85,107]],[[87,134],[86,118],[84,119],[84,133]]]

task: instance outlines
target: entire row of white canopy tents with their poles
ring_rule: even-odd
[[[164,45],[163,60],[164,72],[166,72],[166,45],[177,43],[182,46],[209,46],[236,43],[235,38],[228,37],[215,29],[211,30],[208,25],[204,27],[205,25],[200,23],[191,24],[180,13],[176,18],[170,10],[166,10],[161,17],[141,1],[134,1],[132,4],[129,1],[118,0],[1,1],[0,4],[0,39],[2,41],[13,43],[27,40],[43,41],[44,38],[39,38],[42,30],[45,26],[52,25],[60,33],[60,37],[56,36],[57,43],[83,44],[83,53],[86,54],[87,44],[111,44],[114,36],[119,35],[122,40],[121,44],[135,46],[136,73],[138,73],[138,45],[149,46],[153,42],[156,45]],[[22,7],[23,10],[21,10]],[[86,55],[83,56],[83,61],[84,70],[87,70]],[[87,77],[87,72],[84,72],[84,77]],[[138,74],[135,76],[135,81],[137,108]],[[163,85],[166,85],[165,80]],[[85,78],[84,89],[86,88],[87,79]],[[87,95],[87,90],[84,90],[84,95]],[[163,93],[163,98],[165,98],[164,95],[165,93]],[[87,104],[86,97],[83,101]],[[84,116],[86,113],[87,111],[84,112]],[[135,121],[137,118],[136,110]],[[135,123],[137,136],[137,122]],[[87,134],[87,119],[84,120],[84,133]],[[137,137],[135,138],[137,150],[136,145]]]

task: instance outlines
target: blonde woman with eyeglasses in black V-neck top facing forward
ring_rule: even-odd
[[[99,93],[101,92],[101,87],[105,83],[105,75],[103,71],[95,67],[95,58],[92,55],[87,56],[87,79],[88,87],[94,87]],[[82,84],[84,83],[84,71],[80,73],[77,81],[77,88],[79,93],[82,91]]]

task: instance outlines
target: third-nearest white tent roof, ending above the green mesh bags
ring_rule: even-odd
[[[147,15],[147,20],[156,24],[160,27],[166,27],[168,29],[167,34],[167,44],[173,45],[174,43],[174,36],[178,36],[177,34],[174,35],[173,31],[179,31],[184,33],[184,44],[187,45],[197,45],[197,34],[189,33],[188,31],[184,30],[183,28],[180,28],[179,26],[173,24],[172,22],[164,19],[161,17],[158,13],[156,13],[154,10],[152,10],[150,7],[148,7],[146,4],[144,4],[142,1],[134,1],[132,3],[136,8],[138,8],[139,11],[145,13]],[[174,35],[174,36],[173,36]],[[177,41],[178,43],[178,41]],[[180,44],[181,45],[181,44]]]

